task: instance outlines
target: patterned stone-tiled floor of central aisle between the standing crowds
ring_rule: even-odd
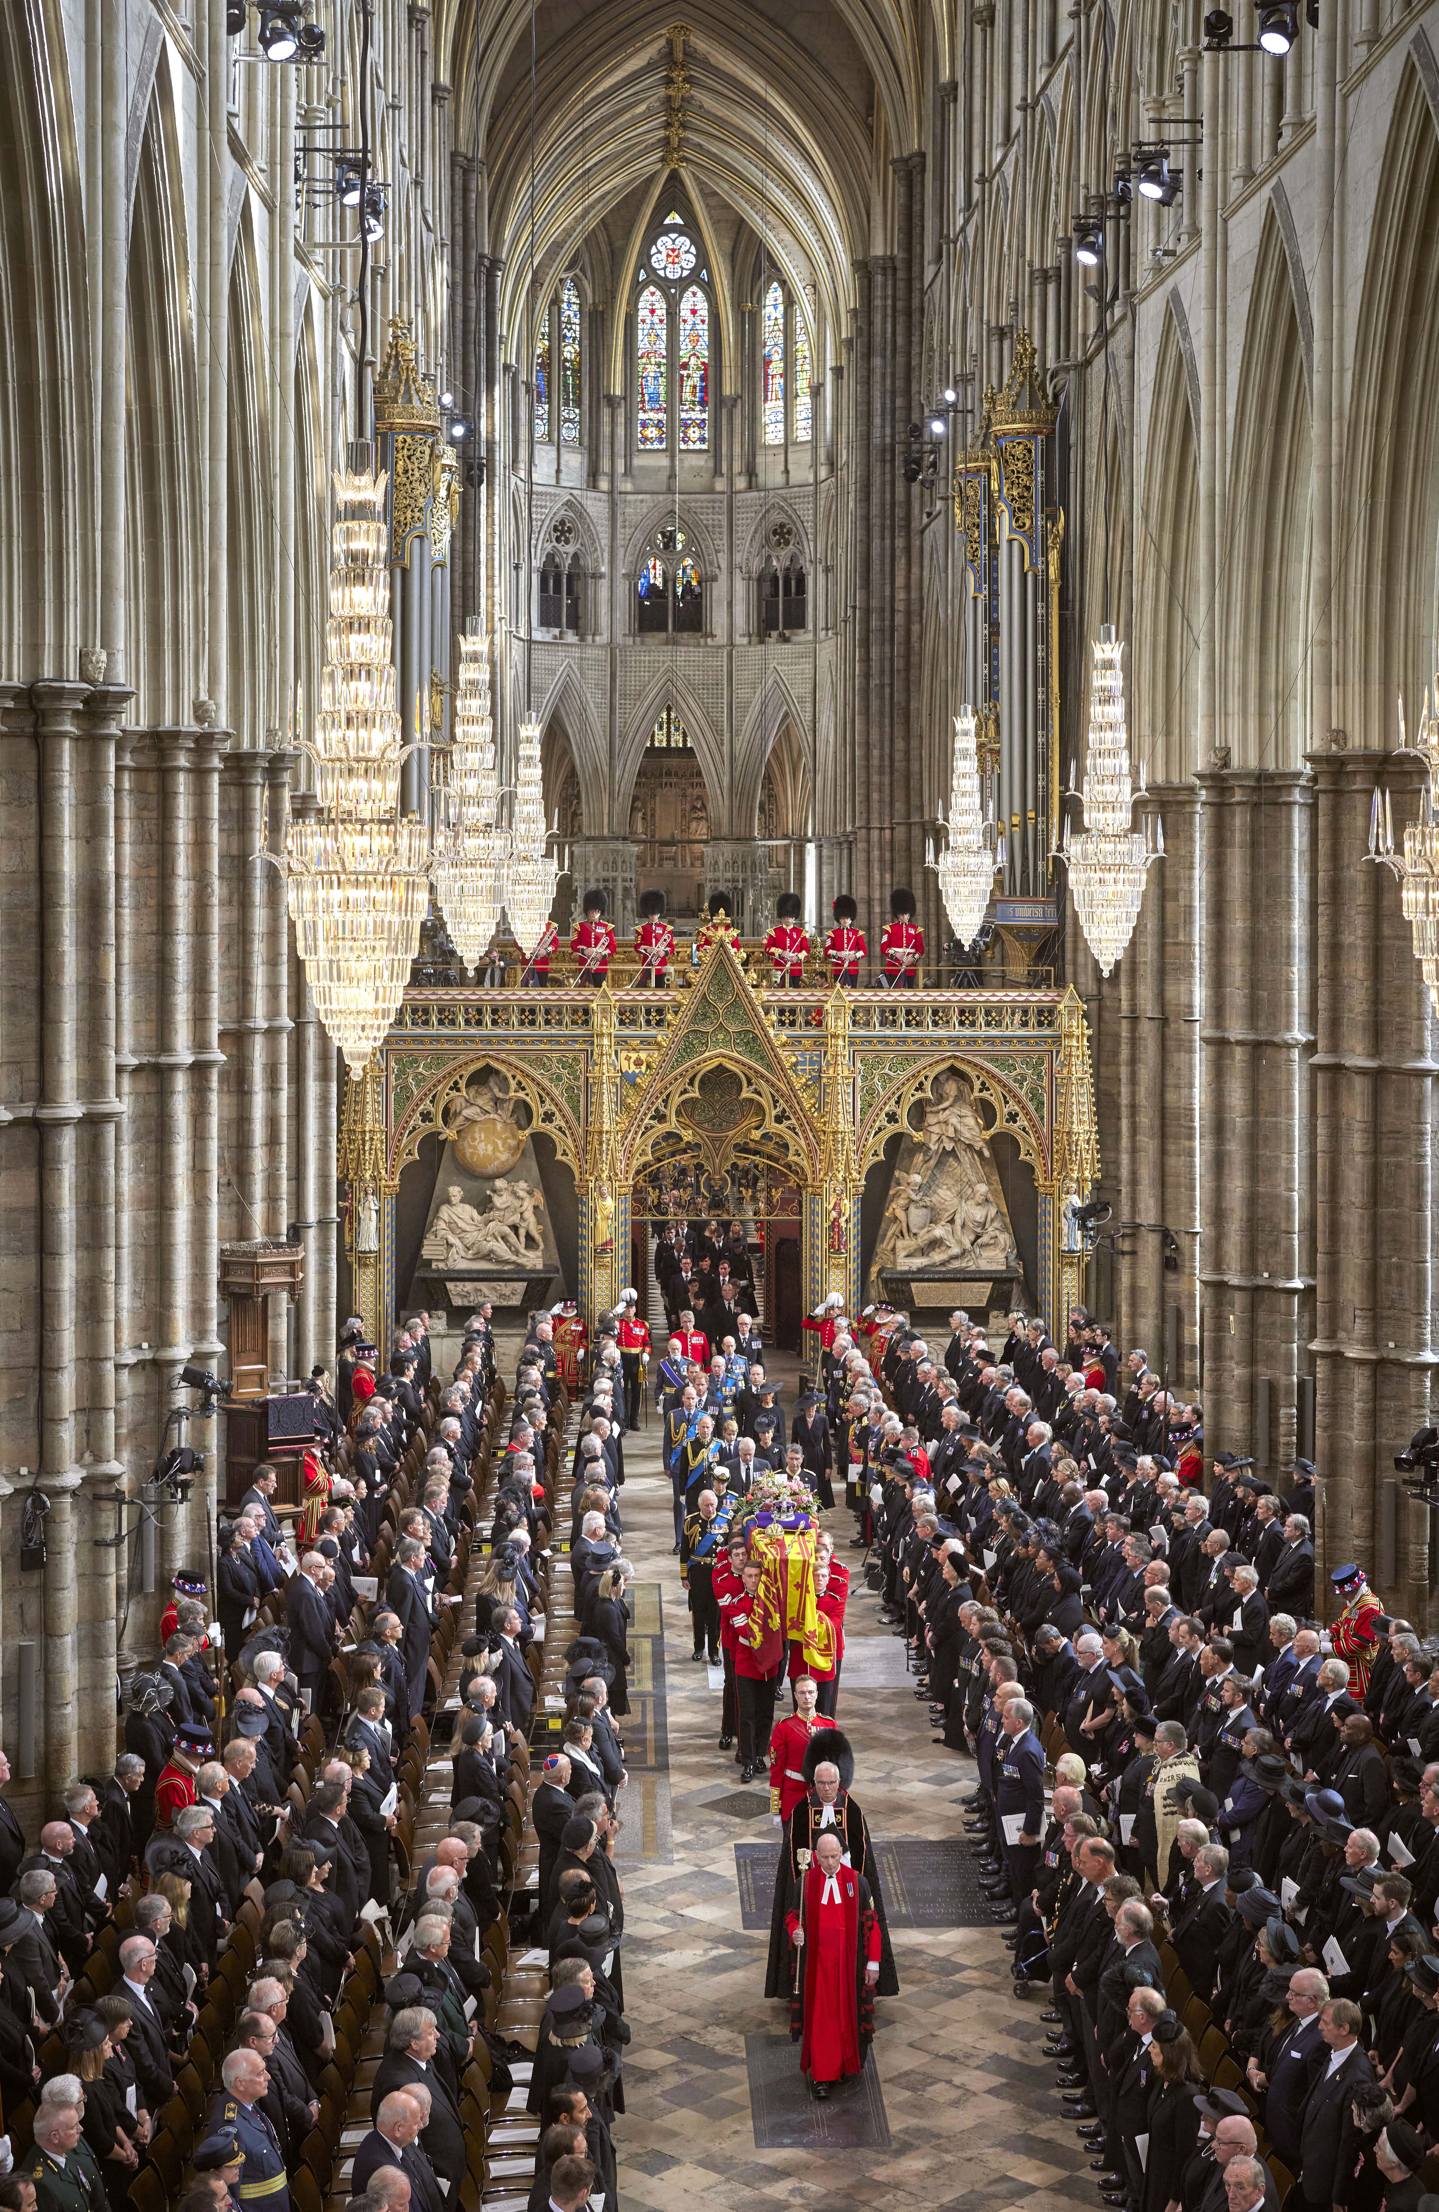
[[[789,1407],[794,1365],[778,1365]],[[690,1659],[654,1407],[648,1427],[626,1438],[626,1553],[639,1577],[626,1732],[643,1770],[621,1796],[632,2026],[628,2112],[617,2124],[621,2205],[712,2212],[829,2192],[840,2205],[1094,2208],[1041,2057],[1041,2006],[1010,1995],[1010,1953],[997,1929],[893,1931],[900,1995],[878,2002],[873,2046],[889,2146],[871,2112],[858,2148],[756,2150],[745,2039],[771,2039],[760,2053],[767,2073],[798,2075],[798,2046],[787,2042],[787,2008],[763,1995],[767,1896],[765,1927],[745,1931],[734,1847],[765,1845],[778,1856],[778,1829],[767,1787],[740,1790],[734,1754],[716,1750],[721,1692]],[[862,1555],[849,1548],[853,1520],[844,1509],[827,1517],[855,1584],[838,1714],[855,1750],[855,1796],[878,1845],[955,1838],[973,1761],[931,1741],[928,1712],[904,1677],[904,1646],[878,1619],[858,1573]],[[778,1710],[789,1710],[787,1692]],[[831,2106],[809,2110],[829,2115]]]

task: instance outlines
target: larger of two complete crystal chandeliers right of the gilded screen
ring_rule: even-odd
[[[1156,818],[1154,843],[1149,825],[1132,830],[1134,783],[1130,779],[1130,741],[1125,734],[1123,646],[1110,622],[1099,628],[1094,646],[1094,679],[1090,686],[1090,750],[1083,781],[1083,830],[1070,836],[1063,827],[1059,858],[1070,869],[1074,914],[1085,933],[1099,973],[1107,975],[1134,933],[1145,876],[1165,852],[1165,827]],[[1143,774],[1138,792],[1143,796]]]

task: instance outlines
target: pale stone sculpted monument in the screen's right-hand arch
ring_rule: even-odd
[[[935,1077],[924,1128],[906,1137],[871,1270],[1019,1274],[1004,1190],[968,1084],[953,1068]]]

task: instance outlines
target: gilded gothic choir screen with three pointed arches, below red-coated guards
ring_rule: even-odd
[[[500,1084],[506,1113],[528,1110],[526,1135],[548,1137],[575,1177],[575,1287],[590,1318],[630,1281],[634,1186],[681,1144],[692,1159],[707,1148],[716,1172],[743,1159],[794,1186],[805,1298],[818,1305],[838,1290],[855,1310],[864,1177],[895,1133],[915,1135],[917,1099],[955,1141],[973,1144],[975,1108],[988,1135],[1015,1137],[1039,1192],[1039,1305],[1054,1321],[1079,1296],[1083,1256],[1065,1245],[1065,1201],[1092,1188],[1099,1146],[1074,991],[915,991],[902,1004],[880,991],[769,991],[729,942],[712,945],[674,991],[407,991],[376,1062],[351,1082],[340,1135],[347,1221],[378,1201],[374,1259],[349,1241],[356,1312],[371,1329],[396,1312],[400,1170],[424,1137],[493,1119],[477,1077]],[[973,1199],[964,1232],[992,1241]]]

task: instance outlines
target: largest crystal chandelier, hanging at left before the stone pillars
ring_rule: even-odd
[[[400,821],[387,476],[336,469],[329,622],[314,741],[318,814],[292,816],[285,885],[314,1006],[360,1073],[389,1029],[429,907],[429,832]]]

